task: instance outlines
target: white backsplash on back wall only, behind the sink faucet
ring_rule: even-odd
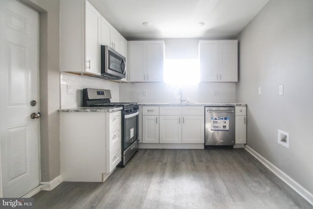
[[[165,83],[121,83],[120,101],[139,103],[180,102],[180,88]],[[182,87],[182,98],[197,103],[235,102],[235,83],[200,83]]]

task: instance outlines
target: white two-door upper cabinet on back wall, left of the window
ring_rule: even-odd
[[[163,82],[164,41],[130,41],[131,82]]]

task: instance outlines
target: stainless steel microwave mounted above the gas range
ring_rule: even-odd
[[[110,46],[101,45],[101,77],[122,79],[126,73],[126,58]]]

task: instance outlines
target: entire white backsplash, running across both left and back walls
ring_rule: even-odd
[[[180,102],[179,87],[165,83],[118,83],[61,72],[61,109],[83,106],[83,89],[109,89],[112,102]],[[197,103],[236,102],[235,83],[199,83],[183,86],[182,98]]]

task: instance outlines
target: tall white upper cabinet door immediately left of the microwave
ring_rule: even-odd
[[[86,1],[86,71],[100,75],[101,15]]]

